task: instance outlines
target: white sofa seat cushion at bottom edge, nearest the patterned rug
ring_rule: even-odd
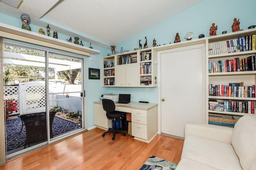
[[[188,170],[188,169],[189,170],[217,170],[216,168],[212,168],[208,165],[204,165],[187,158],[182,158],[175,170]]]

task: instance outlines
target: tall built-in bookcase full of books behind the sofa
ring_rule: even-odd
[[[239,119],[255,113],[255,35],[256,29],[248,29],[208,38],[207,115]]]

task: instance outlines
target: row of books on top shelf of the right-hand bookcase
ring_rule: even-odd
[[[246,35],[244,38],[238,37],[238,39],[219,41],[208,45],[209,55],[256,50],[256,35]]]

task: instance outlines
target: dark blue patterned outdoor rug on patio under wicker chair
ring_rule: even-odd
[[[22,132],[20,133],[22,122],[20,118],[9,119],[6,122],[6,139],[7,139],[7,152],[19,147],[24,147],[26,140],[26,127],[23,126]],[[79,128],[79,125],[62,119],[60,117],[54,117],[52,123],[53,137],[56,137],[62,133],[74,131]],[[19,135],[20,134],[20,135]]]

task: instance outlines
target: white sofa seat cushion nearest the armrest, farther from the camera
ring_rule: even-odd
[[[219,170],[242,170],[232,145],[192,135],[185,137],[182,150],[183,158]]]

